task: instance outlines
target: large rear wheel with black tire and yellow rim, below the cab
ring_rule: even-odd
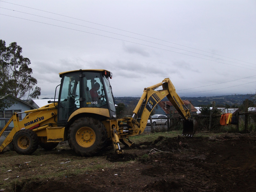
[[[68,130],[68,144],[81,156],[94,156],[107,143],[105,126],[92,117],[81,117],[74,121]]]

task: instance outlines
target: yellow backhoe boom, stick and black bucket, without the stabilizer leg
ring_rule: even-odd
[[[162,86],[162,89],[156,91],[155,89],[160,86]],[[196,127],[197,123],[190,117],[189,109],[186,108],[183,101],[176,93],[175,87],[169,78],[165,78],[161,83],[144,88],[143,94],[133,111],[132,117],[118,119],[119,127],[124,126],[123,124],[127,125],[127,136],[134,136],[142,133],[146,128],[147,121],[152,110],[164,97],[167,97],[170,100],[172,105],[184,119],[182,134],[192,136],[196,132],[194,125]]]

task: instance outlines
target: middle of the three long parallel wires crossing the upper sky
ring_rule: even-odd
[[[91,28],[91,29],[95,29],[95,30],[99,30],[99,31],[103,31],[103,32],[107,32],[107,33],[111,33],[111,34],[115,34],[115,35],[125,36],[125,37],[129,37],[129,38],[132,38],[132,39],[137,39],[137,40],[140,40],[140,41],[145,41],[145,42],[148,42],[148,43],[158,44],[158,45],[170,47],[170,48],[173,48],[173,49],[178,49],[178,50],[181,50],[181,51],[186,51],[186,52],[195,53],[195,54],[198,54],[198,55],[203,55],[203,56],[206,56],[206,57],[211,57],[211,58],[214,58],[214,59],[224,60],[224,59],[212,57],[212,56],[209,56],[209,55],[204,55],[204,54],[197,53],[197,52],[187,51],[187,50],[184,50],[184,49],[180,49],[180,48],[176,48],[176,47],[172,47],[172,46],[168,46],[168,45],[164,45],[164,44],[159,44],[159,43],[155,43],[155,42],[151,42],[151,41],[147,41],[147,40],[143,40],[143,39],[139,39],[139,38],[135,38],[135,37],[131,37],[131,36],[121,35],[121,34],[118,34],[118,33],[113,33],[113,32],[109,32],[109,31],[97,29],[97,28],[87,27],[87,26],[84,26],[84,25],[79,25],[79,24],[75,24],[75,23],[71,23],[71,22],[67,22],[67,21],[63,21],[63,20],[52,19],[52,18],[49,18],[49,17],[44,17],[44,16],[35,15],[35,14],[31,14],[31,13],[26,13],[26,12],[21,12],[21,11],[16,11],[16,10],[7,9],[7,8],[4,8],[4,7],[0,7],[0,8],[1,9],[10,10],[10,11],[20,12],[20,13],[24,13],[24,14],[28,14],[28,15],[33,15],[33,16],[37,16],[37,17],[42,17],[42,18],[45,18],[45,19],[60,21],[60,22],[64,22],[64,23],[68,23],[68,24],[72,24],[72,25],[77,25],[77,26],[80,26],[80,27]],[[234,62],[234,61],[229,61],[229,60],[224,60],[224,61],[228,61],[228,62],[231,62],[231,63],[236,63],[236,64],[239,64],[239,65],[244,65],[244,66],[247,66],[247,67],[252,67],[252,66],[241,64],[241,63],[237,63],[237,62]],[[256,68],[256,67],[252,67],[252,68]]]

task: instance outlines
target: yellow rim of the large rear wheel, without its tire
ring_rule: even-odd
[[[96,140],[96,134],[90,127],[81,127],[76,132],[76,142],[81,147],[91,147]]]

